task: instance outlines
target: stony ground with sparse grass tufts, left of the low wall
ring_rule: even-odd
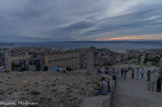
[[[29,101],[38,107],[78,107],[84,98],[94,96],[99,80],[99,76],[86,75],[85,71],[1,73],[0,101]]]

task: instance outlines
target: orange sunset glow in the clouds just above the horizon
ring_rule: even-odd
[[[141,36],[124,36],[105,39],[96,39],[96,41],[113,41],[113,40],[159,40],[162,35],[141,35]]]

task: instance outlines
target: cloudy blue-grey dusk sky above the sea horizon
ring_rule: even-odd
[[[162,0],[0,0],[0,42],[162,40]]]

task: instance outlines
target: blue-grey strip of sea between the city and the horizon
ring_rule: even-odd
[[[112,51],[124,53],[127,49],[146,50],[146,49],[161,49],[162,41],[61,41],[61,42],[13,42],[12,46],[3,45],[1,48],[16,48],[16,47],[47,47],[52,50],[57,50],[60,47],[64,50],[89,48],[108,48]]]

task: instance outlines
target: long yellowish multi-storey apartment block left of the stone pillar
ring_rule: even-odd
[[[45,55],[45,65],[50,71],[54,71],[56,66],[62,66],[65,70],[80,69],[80,53],[77,51],[53,51]]]

